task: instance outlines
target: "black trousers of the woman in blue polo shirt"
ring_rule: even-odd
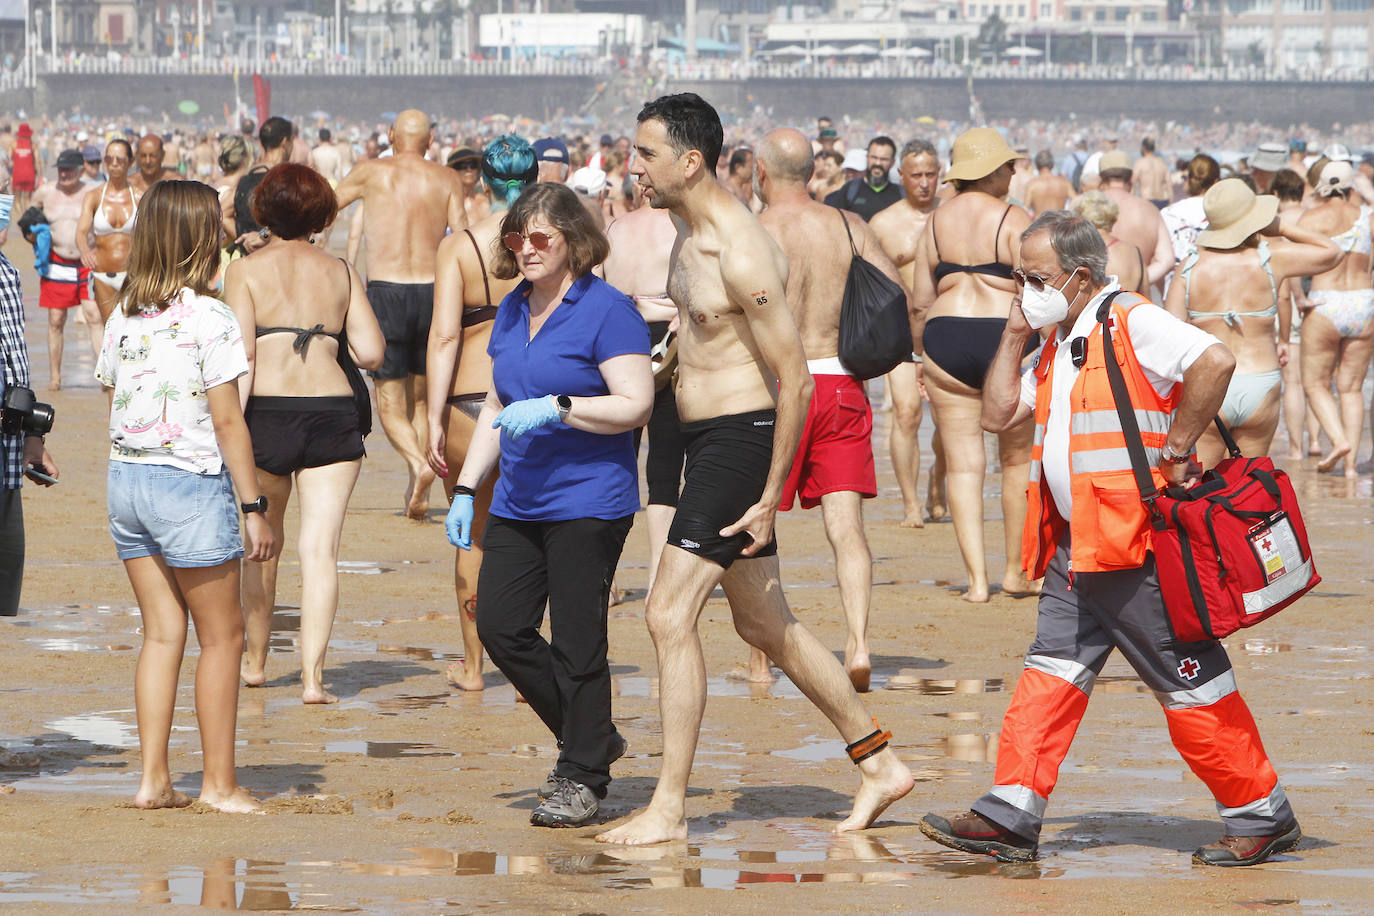
[[[610,784],[610,582],[635,516],[519,522],[492,515],[477,578],[477,633],[492,662],[558,739],[556,773]],[[548,604],[552,643],[539,633]]]

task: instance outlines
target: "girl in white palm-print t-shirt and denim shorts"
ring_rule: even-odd
[[[191,803],[172,787],[168,737],[187,612],[201,661],[195,713],[201,801],[224,812],[258,802],[238,784],[234,732],[243,655],[239,505],[247,556],[276,553],[235,379],[247,371],[234,314],[209,293],[220,269],[220,201],[199,181],[159,181],[143,196],[128,279],[104,325],[96,379],[109,390],[110,534],[143,615],[135,677],[143,780],[136,808]]]

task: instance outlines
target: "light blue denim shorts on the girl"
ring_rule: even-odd
[[[161,555],[168,566],[218,566],[243,556],[239,507],[227,468],[195,474],[168,464],[110,461],[106,503],[121,560]]]

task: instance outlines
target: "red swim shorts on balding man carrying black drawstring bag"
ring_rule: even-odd
[[[826,493],[878,496],[872,468],[872,408],[863,383],[848,375],[816,375],[797,457],[782,492],[783,512],[800,494],[801,507],[820,505]]]

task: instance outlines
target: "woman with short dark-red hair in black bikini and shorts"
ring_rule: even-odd
[[[386,346],[363,282],[348,264],[311,243],[335,216],[334,191],[313,169],[283,163],[253,192],[253,218],[272,235],[224,275],[224,298],[243,328],[249,374],[240,382],[258,483],[278,538],[291,496],[301,503],[301,699],[334,703],[324,689],[324,650],[338,610],[344,515],[363,464],[363,434],[346,346],[357,365],[382,364]],[[276,559],[243,564],[249,687],[267,681],[276,604]]]

